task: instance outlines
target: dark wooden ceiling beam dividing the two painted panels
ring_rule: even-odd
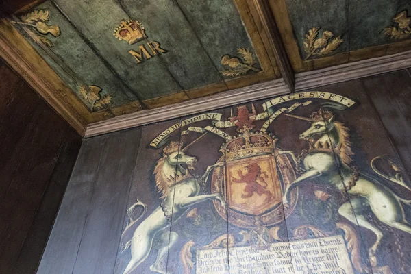
[[[291,92],[295,91],[295,75],[288,60],[288,55],[286,49],[282,42],[282,38],[279,35],[277,25],[275,25],[275,19],[273,13],[271,12],[271,7],[269,1],[266,0],[253,0],[253,5],[255,6],[258,15],[261,18],[264,29],[269,37],[269,42],[277,65],[279,66],[279,71],[282,74],[286,86]]]

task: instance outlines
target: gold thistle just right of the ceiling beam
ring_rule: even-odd
[[[304,51],[307,53],[306,60],[314,56],[324,56],[335,51],[341,43],[344,41],[341,36],[334,37],[334,33],[329,30],[323,32],[323,36],[318,38],[319,29],[321,27],[313,27],[308,30],[306,34],[306,39],[304,40]]]

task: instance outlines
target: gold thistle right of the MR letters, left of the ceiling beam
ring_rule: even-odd
[[[220,71],[223,76],[230,76],[230,77],[237,77],[239,75],[244,75],[248,71],[256,71],[259,72],[259,69],[253,67],[256,62],[253,58],[253,53],[248,49],[237,49],[238,55],[240,55],[240,59],[237,57],[230,57],[228,54],[224,55],[221,58],[221,64],[224,66],[229,66],[232,69],[226,69],[224,71]]]

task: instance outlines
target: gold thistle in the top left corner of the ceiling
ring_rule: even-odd
[[[47,47],[53,47],[53,43],[45,37],[47,34],[51,34],[54,37],[60,36],[60,28],[57,25],[47,25],[49,21],[50,12],[49,10],[34,10],[34,12],[29,12],[21,16],[21,22],[12,21],[15,24],[27,25],[29,27],[34,27],[37,32],[42,35],[36,34],[40,42],[42,42]]]

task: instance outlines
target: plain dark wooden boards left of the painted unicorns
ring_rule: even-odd
[[[38,273],[112,273],[141,129],[85,140]]]

